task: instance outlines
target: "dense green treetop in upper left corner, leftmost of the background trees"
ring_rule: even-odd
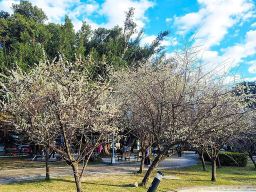
[[[11,16],[1,12],[0,70],[6,72],[17,63],[27,71],[42,59],[42,46],[51,35],[44,24],[47,16],[25,0],[13,4],[12,10]]]

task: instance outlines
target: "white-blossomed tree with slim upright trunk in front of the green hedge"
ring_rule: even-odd
[[[216,77],[216,75],[215,75]],[[247,116],[253,111],[247,106],[253,98],[246,97],[244,84],[236,84],[231,87],[224,84],[223,80],[213,79],[211,85],[201,100],[201,107],[208,108],[196,134],[197,140],[204,146],[205,152],[211,160],[211,181],[216,180],[216,159],[219,149],[231,142],[232,137],[236,137],[240,132],[245,131],[246,124],[249,123]],[[237,95],[236,92],[240,94]],[[210,110],[209,110],[210,109]],[[208,152],[209,150],[209,152]]]

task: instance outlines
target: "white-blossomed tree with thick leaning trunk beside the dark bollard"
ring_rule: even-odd
[[[187,116],[187,113],[189,107],[191,111],[195,110],[194,97],[189,95],[191,90],[187,88],[186,66],[178,68],[176,64],[176,60],[159,60],[116,74],[121,94],[128,97],[127,109],[131,111],[131,118],[140,120],[141,127],[151,134],[158,146],[159,153],[142,181],[144,186],[158,163],[172,154],[168,150],[191,137],[189,123],[195,116]],[[192,77],[189,79],[193,80]],[[184,117],[187,117],[186,121]]]

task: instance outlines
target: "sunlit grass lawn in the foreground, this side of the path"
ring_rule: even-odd
[[[211,166],[207,164],[207,169],[211,170]],[[211,182],[211,172],[202,171],[201,163],[197,165],[177,168],[163,169],[164,175],[173,175],[181,177],[179,180],[163,179],[157,191],[167,191],[176,188],[201,186],[201,185],[256,185],[256,170],[253,164],[249,163],[246,167],[223,166],[217,168],[217,181]],[[155,175],[155,174],[154,174]],[[153,175],[153,176],[154,176]],[[150,183],[153,179],[150,179]],[[133,187],[134,182],[140,184],[143,175],[127,174],[123,176],[84,176],[82,186],[84,191],[146,191],[147,188],[139,186]],[[150,184],[149,183],[149,184]],[[0,185],[0,191],[19,191],[19,192],[37,192],[37,191],[76,191],[73,177],[52,178],[50,181],[33,180],[16,182],[12,184]]]

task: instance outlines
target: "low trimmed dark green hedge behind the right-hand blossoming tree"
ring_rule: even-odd
[[[246,166],[248,162],[248,156],[240,152],[222,152],[221,151],[218,153],[218,156],[219,156],[220,164],[223,166],[238,166],[237,163],[239,164],[239,166]],[[205,152],[203,157],[204,157],[204,160],[210,160],[208,155]]]

